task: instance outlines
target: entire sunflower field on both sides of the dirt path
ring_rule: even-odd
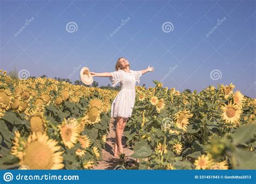
[[[232,83],[199,93],[154,83],[136,87],[124,131],[135,169],[256,169],[254,98]],[[1,169],[93,168],[117,93],[0,70]]]

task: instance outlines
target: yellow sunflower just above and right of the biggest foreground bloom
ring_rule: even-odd
[[[62,137],[63,143],[66,147],[71,148],[78,141],[79,126],[72,126],[69,123],[69,119],[64,119],[62,125],[58,125],[60,130],[60,136]]]

